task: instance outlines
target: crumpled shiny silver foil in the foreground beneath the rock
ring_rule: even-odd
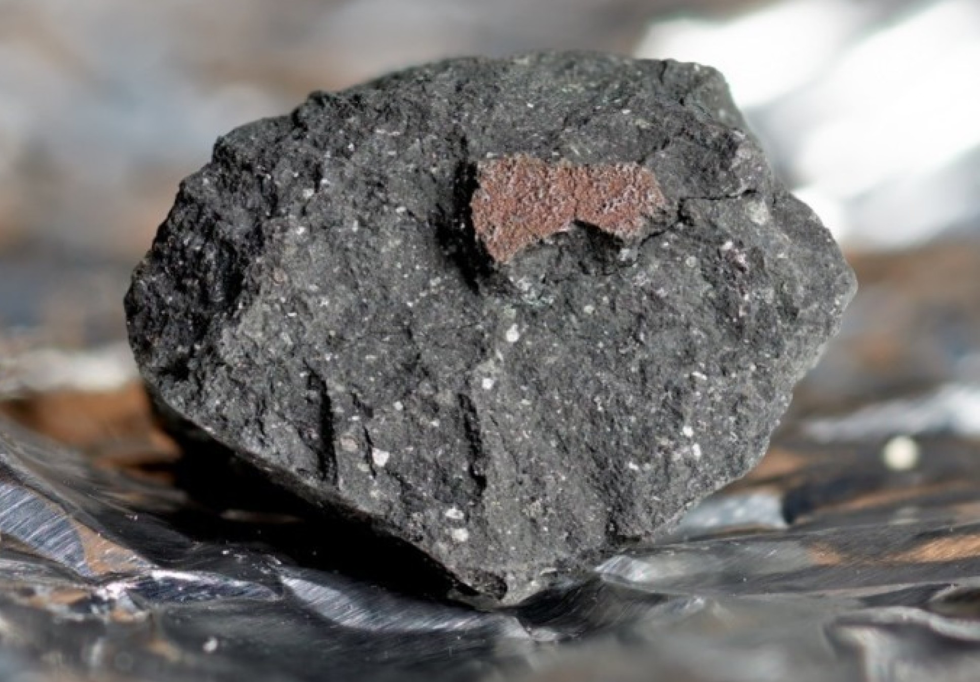
[[[932,437],[895,470],[880,445],[782,443],[781,471],[661,544],[487,612],[227,539],[179,491],[4,422],[0,679],[978,679],[977,449]]]

